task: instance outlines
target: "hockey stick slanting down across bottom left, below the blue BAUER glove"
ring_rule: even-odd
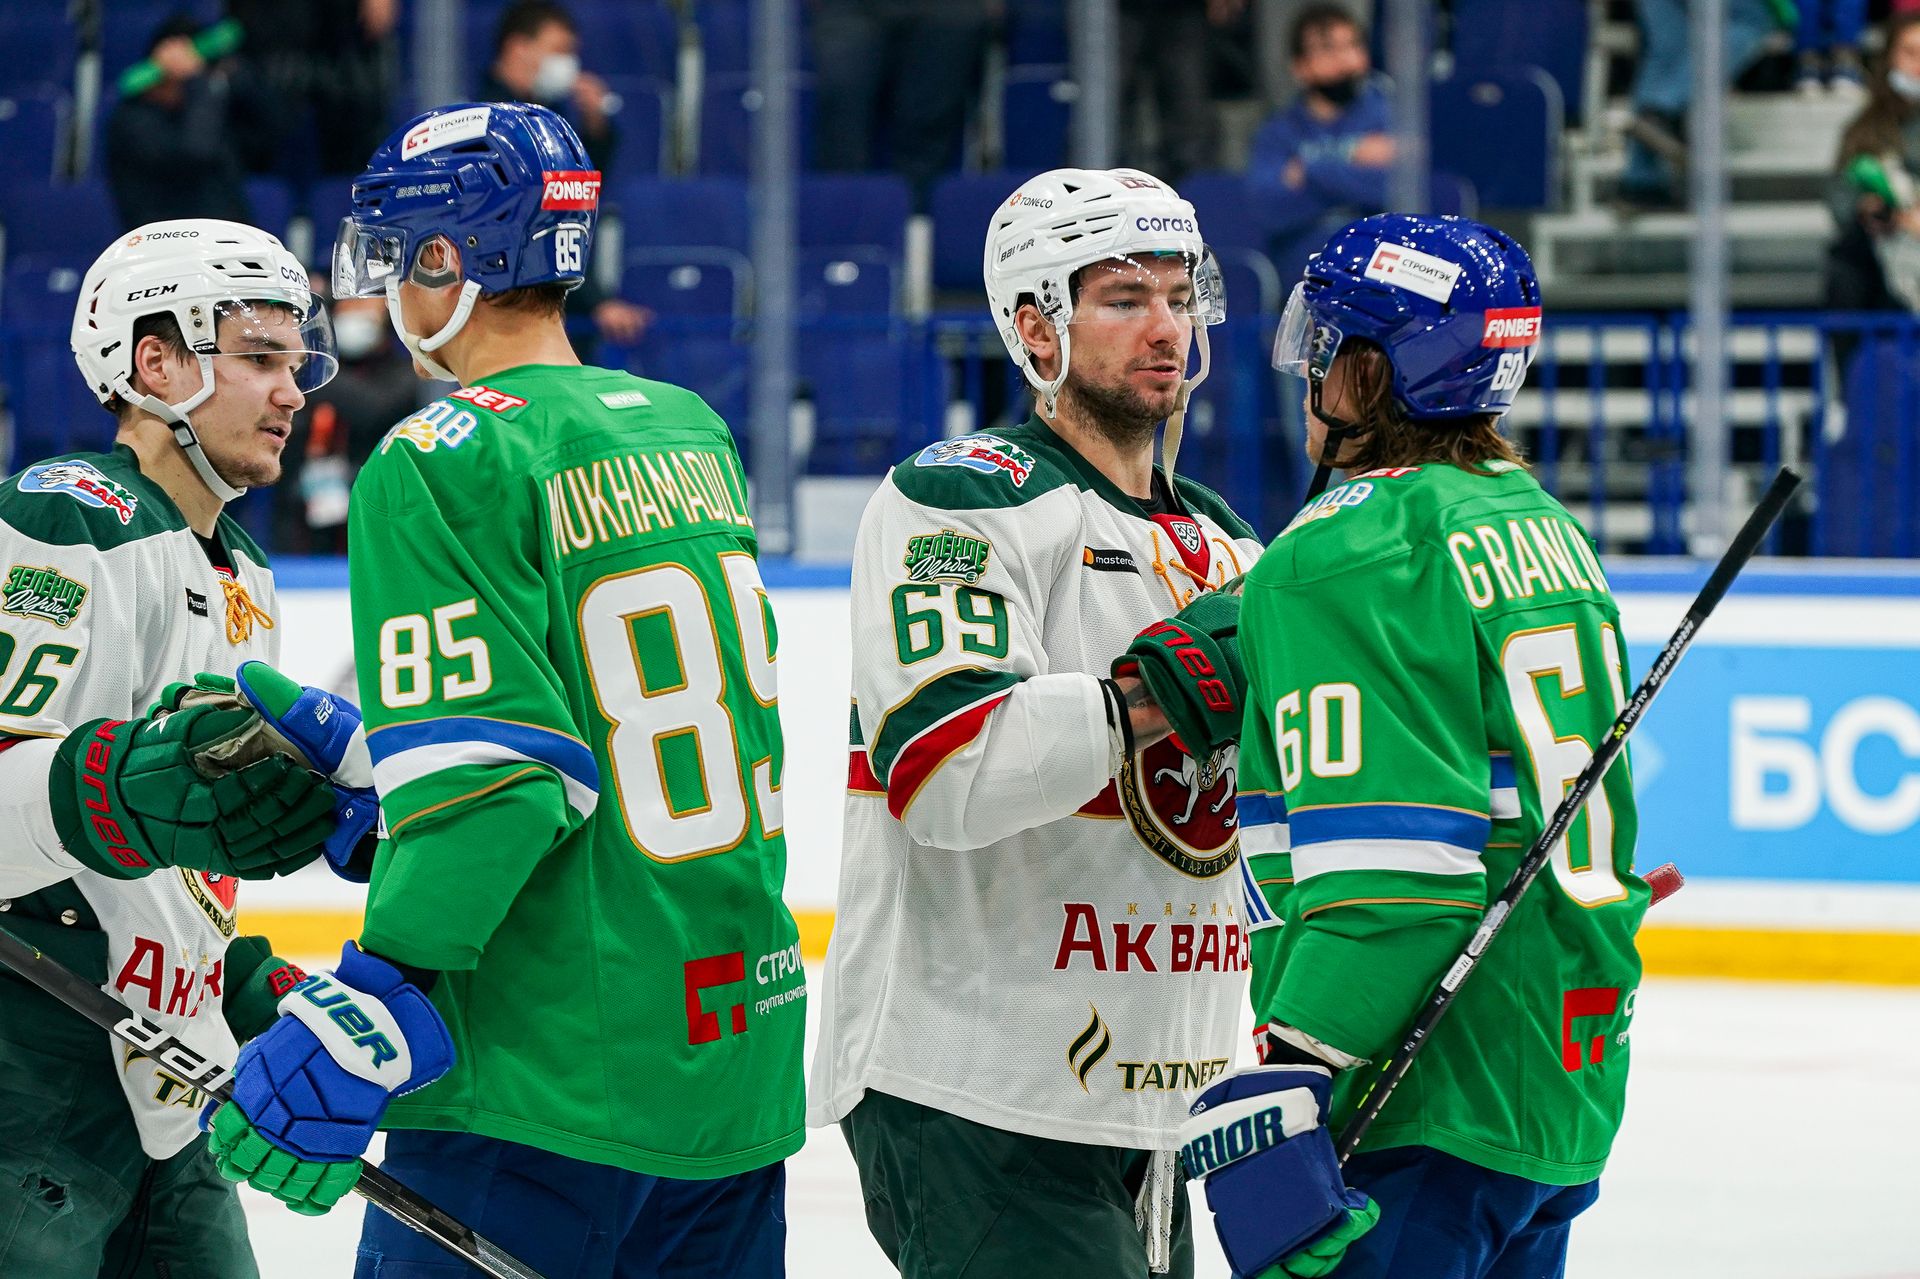
[[[204,1089],[207,1097],[232,1100],[232,1072],[215,1060],[194,1052],[184,1043],[140,1018],[98,985],[88,983],[60,960],[27,945],[0,928],[0,964],[67,1004],[94,1026],[127,1041],[140,1054],[154,1058],[186,1083]],[[538,1269],[516,1260],[499,1244],[476,1235],[440,1208],[386,1175],[374,1164],[361,1168],[353,1193],[397,1221],[417,1229],[468,1266],[493,1279],[541,1279]]]

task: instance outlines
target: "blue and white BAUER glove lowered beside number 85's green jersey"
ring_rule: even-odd
[[[305,1164],[359,1158],[388,1100],[451,1068],[453,1039],[426,995],[349,941],[340,966],[300,981],[280,1020],[240,1050],[223,1108],[238,1118],[219,1120],[209,1106],[202,1123],[227,1125],[215,1150],[225,1177],[288,1198],[290,1181],[319,1177]]]

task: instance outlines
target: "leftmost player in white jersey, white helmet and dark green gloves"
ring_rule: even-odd
[[[271,234],[154,223],[86,273],[73,351],[111,451],[0,488],[0,928],[230,1062],[298,972],[234,935],[236,878],[313,860],[332,789],[278,757],[207,780],[192,751],[246,712],[148,709],[275,659],[273,574],[223,507],[278,478],[326,315]],[[255,1275],[205,1097],[12,974],[0,1008],[0,1275]]]

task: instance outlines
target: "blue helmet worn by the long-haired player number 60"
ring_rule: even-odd
[[[1517,240],[1473,219],[1361,217],[1308,261],[1273,367],[1317,390],[1348,338],[1386,351],[1407,417],[1500,415],[1538,350],[1540,277]]]

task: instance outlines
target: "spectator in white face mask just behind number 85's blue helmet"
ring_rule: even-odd
[[[607,81],[580,69],[580,29],[574,15],[551,0],[515,0],[493,31],[493,65],[480,81],[482,102],[538,102],[572,123],[588,156],[601,169],[612,161],[612,117],[620,96]],[[586,363],[597,363],[601,340],[632,346],[647,332],[653,311],[609,294],[588,271],[588,280],[566,294],[568,332]],[[614,361],[618,363],[618,361]]]

